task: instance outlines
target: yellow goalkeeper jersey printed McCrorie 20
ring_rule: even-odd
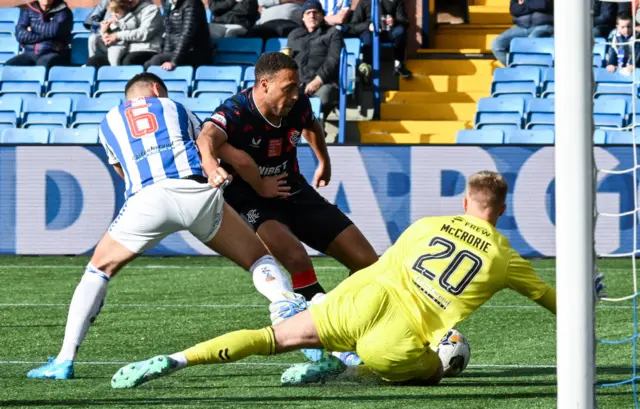
[[[412,224],[375,265],[431,345],[498,291],[511,288],[555,314],[555,290],[490,223],[469,215]]]

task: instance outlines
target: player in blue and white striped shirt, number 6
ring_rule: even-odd
[[[189,231],[249,270],[270,301],[285,309],[287,303],[294,308],[304,303],[253,230],[224,202],[221,187],[230,178],[218,165],[216,148],[225,140],[216,136],[215,125],[202,126],[193,113],[168,99],[166,86],[153,74],[133,77],[125,93],[128,101],[102,121],[100,141],[126,182],[127,201],[76,287],[60,353],[31,370],[29,378],[73,378],[77,349],[100,312],[109,279],[178,231]]]

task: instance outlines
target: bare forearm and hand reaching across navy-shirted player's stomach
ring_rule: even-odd
[[[287,173],[277,176],[260,176],[258,165],[245,151],[236,149],[228,143],[222,144],[219,149],[220,159],[227,162],[244,179],[253,190],[262,197],[288,196],[291,190],[287,186]]]

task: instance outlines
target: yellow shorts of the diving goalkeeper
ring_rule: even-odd
[[[325,349],[356,351],[389,382],[425,379],[438,369],[437,354],[413,330],[405,313],[371,267],[345,280],[310,313]]]

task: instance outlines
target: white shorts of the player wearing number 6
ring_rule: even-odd
[[[136,254],[188,230],[203,243],[222,224],[222,190],[188,179],[165,179],[130,197],[111,223],[111,237]]]

